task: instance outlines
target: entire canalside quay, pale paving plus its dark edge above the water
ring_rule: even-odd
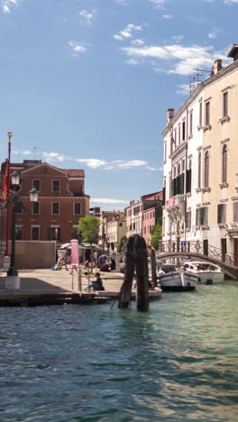
[[[82,289],[78,290],[78,277],[69,271],[33,270],[20,271],[21,288],[5,289],[5,277],[0,277],[0,307],[35,307],[65,304],[104,304],[119,298],[123,275],[107,273],[102,275],[103,291],[86,291],[88,280],[82,279]],[[91,279],[93,280],[93,278]],[[150,298],[161,297],[161,290],[151,290]],[[136,291],[132,292],[132,300]]]

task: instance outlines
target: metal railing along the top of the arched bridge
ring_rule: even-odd
[[[224,250],[217,248],[216,246],[203,243],[203,241],[160,241],[159,252],[199,253],[217,261],[223,261],[227,264],[237,265],[237,258],[233,253],[227,253]]]

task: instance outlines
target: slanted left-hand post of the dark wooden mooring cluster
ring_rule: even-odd
[[[134,255],[133,255],[134,237],[129,237],[125,249],[125,271],[124,282],[120,291],[120,299],[118,307],[121,309],[130,306],[131,292],[133,287],[133,273],[134,273]]]

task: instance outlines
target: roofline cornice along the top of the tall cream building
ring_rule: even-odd
[[[175,122],[178,120],[178,117],[180,117],[180,115],[182,115],[185,110],[188,108],[189,105],[191,105],[193,103],[193,101],[195,101],[195,99],[197,98],[198,95],[200,95],[200,93],[202,92],[202,90],[205,87],[208,87],[209,85],[212,85],[213,83],[215,83],[217,80],[224,78],[226,75],[228,75],[229,73],[232,73],[234,70],[236,70],[238,68],[238,60],[233,61],[232,64],[230,64],[229,66],[226,66],[226,68],[219,70],[219,72],[217,72],[215,75],[211,76],[210,78],[207,78],[206,80],[204,80],[203,82],[201,82],[197,88],[195,89],[195,91],[192,93],[191,96],[189,96],[188,100],[184,103],[184,105],[182,105],[178,112],[176,113],[176,115],[174,115],[174,117],[172,118],[171,122],[169,123],[169,125],[164,129],[164,131],[161,133],[162,136],[166,136],[167,133],[170,131],[171,127],[173,126],[173,124],[175,124]]]

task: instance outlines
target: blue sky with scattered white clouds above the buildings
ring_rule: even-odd
[[[90,206],[161,190],[167,109],[197,67],[231,62],[237,14],[238,0],[0,0],[0,160],[13,131],[12,161],[84,169]]]

